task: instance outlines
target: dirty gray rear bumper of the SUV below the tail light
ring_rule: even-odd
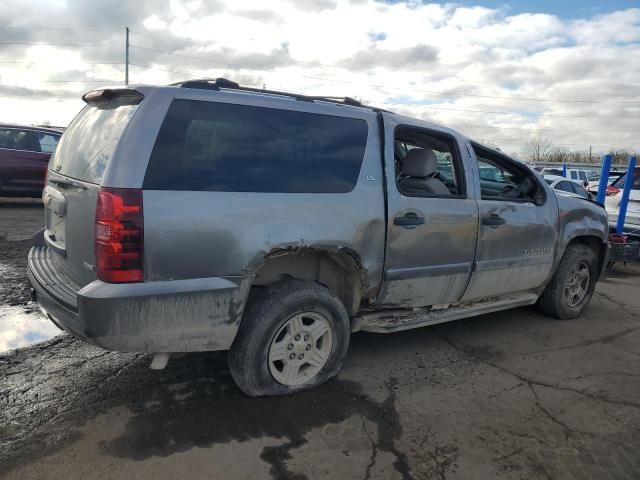
[[[96,280],[70,302],[47,278],[41,257],[37,247],[31,249],[28,276],[48,318],[77,338],[121,352],[227,350],[251,283],[250,277],[131,284]]]

